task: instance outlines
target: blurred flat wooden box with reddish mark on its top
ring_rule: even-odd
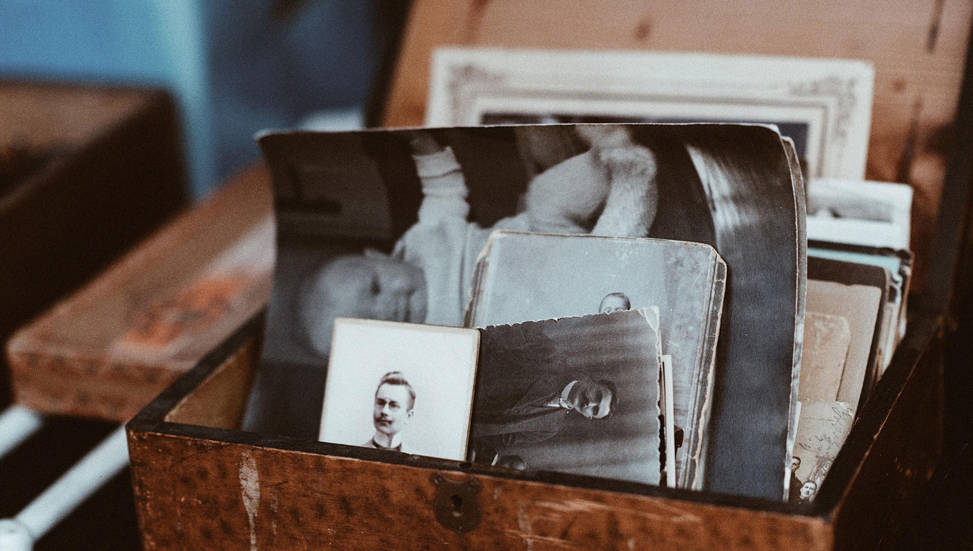
[[[270,224],[265,269],[208,266],[270,212],[270,177],[252,168],[22,327],[7,344],[16,401],[129,419],[267,303]]]

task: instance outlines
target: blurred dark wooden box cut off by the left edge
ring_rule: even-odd
[[[0,342],[187,199],[175,105],[160,90],[0,82],[0,155],[14,151],[42,160],[0,189]]]

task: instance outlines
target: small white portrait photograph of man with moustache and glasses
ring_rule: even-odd
[[[479,346],[476,329],[337,320],[318,439],[463,461]]]

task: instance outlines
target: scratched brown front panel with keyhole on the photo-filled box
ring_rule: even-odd
[[[816,517],[488,476],[460,535],[435,518],[436,469],[151,432],[129,433],[129,455],[149,551],[831,547]]]

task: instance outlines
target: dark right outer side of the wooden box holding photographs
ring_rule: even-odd
[[[942,318],[912,323],[818,494],[842,549],[889,548],[943,451]]]

